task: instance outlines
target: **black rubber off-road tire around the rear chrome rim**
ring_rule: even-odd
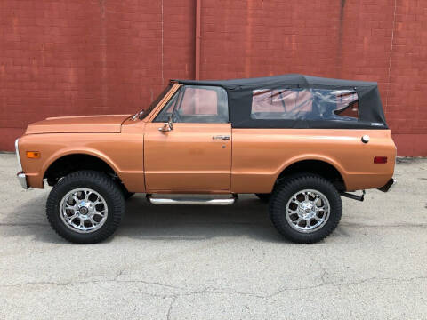
[[[326,196],[330,204],[329,218],[326,223],[311,233],[302,233],[292,228],[286,220],[286,204],[296,192],[303,189],[315,189]],[[278,232],[286,239],[298,244],[313,244],[329,236],[338,225],[342,215],[342,201],[334,185],[325,178],[304,173],[282,180],[274,188],[270,198],[270,219]]]

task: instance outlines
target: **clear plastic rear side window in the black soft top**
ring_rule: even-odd
[[[253,91],[251,118],[357,121],[358,101],[352,90],[260,89]]]

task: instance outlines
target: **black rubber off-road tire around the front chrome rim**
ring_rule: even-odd
[[[78,233],[68,228],[60,218],[60,201],[75,188],[91,188],[99,193],[108,205],[108,216],[101,228],[91,233]],[[46,215],[53,230],[64,239],[76,244],[95,244],[111,236],[125,214],[125,197],[122,190],[107,174],[95,171],[78,171],[61,179],[49,194]]]

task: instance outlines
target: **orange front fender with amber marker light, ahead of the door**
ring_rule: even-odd
[[[96,156],[117,173],[131,192],[145,192],[144,122],[132,122],[121,133],[46,133],[20,138],[20,159],[28,185],[44,188],[44,172],[57,159],[72,154]],[[25,156],[26,150],[40,151],[38,159]]]

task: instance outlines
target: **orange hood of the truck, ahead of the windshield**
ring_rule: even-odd
[[[49,117],[29,124],[26,133],[119,133],[123,122],[129,116],[131,115]]]

